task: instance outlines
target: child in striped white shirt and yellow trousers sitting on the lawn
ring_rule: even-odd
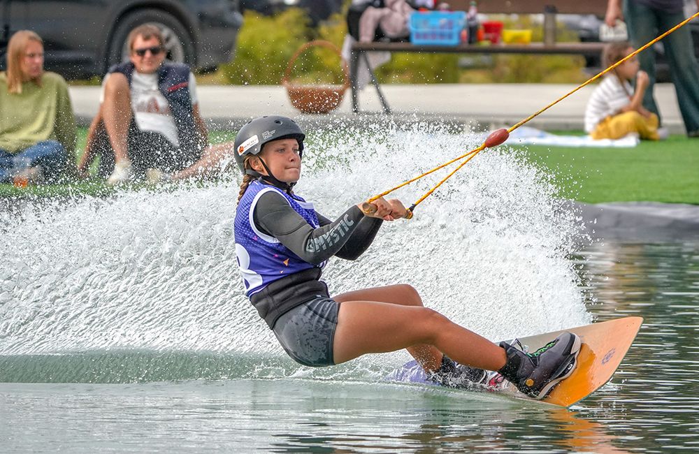
[[[612,66],[631,52],[629,43],[607,44],[603,64]],[[634,79],[635,91],[630,83]],[[658,116],[642,105],[648,85],[648,74],[639,71],[635,58],[605,74],[587,103],[585,132],[593,139],[619,139],[637,133],[641,139],[658,140]]]

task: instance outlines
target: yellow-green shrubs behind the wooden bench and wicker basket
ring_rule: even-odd
[[[345,5],[346,11],[347,5]],[[514,17],[514,18],[512,18]],[[541,41],[542,29],[530,16],[495,16],[505,28],[533,29],[533,41]],[[339,13],[319,25],[310,26],[307,14],[289,8],[272,17],[254,11],[245,12],[245,25],[238,35],[236,58],[219,68],[216,81],[234,85],[278,85],[298,47],[313,39],[330,41],[341,47],[347,34],[345,13]],[[562,26],[559,41],[571,41],[574,34]],[[391,61],[377,68],[380,82],[489,83],[489,82],[582,82],[583,57],[494,55],[487,68],[459,68],[459,54],[412,54],[396,52]],[[291,80],[303,84],[339,84],[343,73],[335,52],[313,47],[298,57]]]

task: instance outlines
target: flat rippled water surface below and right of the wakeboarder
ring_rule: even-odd
[[[382,383],[366,374],[0,383],[0,439],[13,440],[3,445],[9,451],[695,451],[699,242],[598,243],[573,260],[598,321],[640,315],[645,323],[612,382],[571,410]],[[144,369],[152,367],[144,358]],[[222,370],[230,367],[212,361]],[[195,363],[212,367],[208,357]]]

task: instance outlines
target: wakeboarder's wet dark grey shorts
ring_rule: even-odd
[[[305,366],[335,364],[333,340],[340,303],[324,296],[285,312],[274,324],[274,335],[292,359]]]

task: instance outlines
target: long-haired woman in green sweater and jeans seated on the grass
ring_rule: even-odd
[[[43,41],[20,30],[0,73],[0,182],[55,182],[75,170],[75,117],[66,81],[43,69]]]

